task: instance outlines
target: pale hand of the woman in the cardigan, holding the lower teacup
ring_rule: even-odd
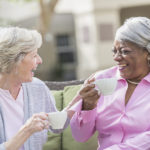
[[[24,125],[30,134],[49,128],[48,115],[44,112],[34,114]]]

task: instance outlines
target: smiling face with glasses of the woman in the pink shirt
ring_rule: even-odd
[[[115,41],[113,58],[117,62],[121,77],[141,80],[149,73],[148,52],[131,42]]]

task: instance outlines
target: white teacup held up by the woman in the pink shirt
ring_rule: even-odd
[[[100,91],[101,94],[110,95],[114,92],[117,86],[116,78],[104,78],[94,81],[96,88]]]

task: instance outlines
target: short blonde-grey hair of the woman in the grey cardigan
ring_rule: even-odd
[[[36,30],[0,28],[0,73],[9,73],[24,56],[40,48],[42,38]]]

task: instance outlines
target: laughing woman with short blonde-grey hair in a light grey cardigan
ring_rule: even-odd
[[[0,28],[0,150],[42,150],[47,139],[47,113],[57,109],[48,87],[33,78],[41,44],[35,30]]]

